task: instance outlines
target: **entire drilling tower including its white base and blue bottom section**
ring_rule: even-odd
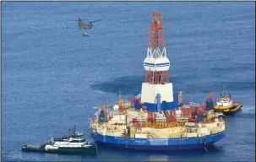
[[[150,21],[149,44],[144,59],[145,76],[141,90],[141,103],[147,107],[147,111],[171,110],[177,107],[177,99],[175,103],[173,100],[172,83],[169,82],[169,68],[161,13],[154,12]]]

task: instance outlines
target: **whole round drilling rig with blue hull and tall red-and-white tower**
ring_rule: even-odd
[[[90,121],[91,137],[98,144],[136,150],[182,151],[206,148],[225,137],[225,121],[213,110],[213,101],[204,104],[182,101],[169,81],[171,63],[161,13],[150,22],[144,82],[132,100],[118,105],[101,105]]]

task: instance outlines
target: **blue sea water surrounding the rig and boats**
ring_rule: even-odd
[[[95,106],[130,98],[144,81],[153,11],[162,13],[170,80],[183,98],[241,102],[209,152],[99,148],[85,155],[22,153],[77,126],[89,140]],[[79,30],[78,18],[101,19]],[[255,3],[2,3],[3,161],[255,161]],[[74,21],[73,21],[74,20]],[[82,34],[87,32],[90,37]]]

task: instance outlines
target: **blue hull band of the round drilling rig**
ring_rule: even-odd
[[[91,132],[91,137],[97,144],[104,144],[113,148],[127,148],[136,150],[163,150],[163,151],[181,151],[189,149],[204,148],[205,145],[212,145],[225,137],[226,132],[219,132],[214,135],[208,135],[205,138],[115,138],[112,136],[103,136]]]

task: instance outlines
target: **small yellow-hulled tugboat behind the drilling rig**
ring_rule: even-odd
[[[238,102],[234,102],[231,99],[231,94],[226,92],[226,87],[223,87],[223,94],[219,97],[214,105],[215,111],[221,111],[224,114],[233,114],[237,111],[241,111],[242,105]]]

